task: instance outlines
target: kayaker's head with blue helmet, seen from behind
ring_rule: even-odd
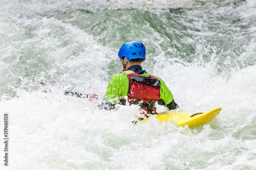
[[[130,61],[131,64],[134,62],[141,63],[145,60],[146,48],[144,44],[139,41],[128,41],[121,46],[118,56],[123,65],[123,70],[126,70],[125,66],[128,61]]]

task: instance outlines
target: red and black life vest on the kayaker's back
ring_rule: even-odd
[[[130,104],[138,104],[147,114],[156,113],[155,103],[160,98],[160,80],[153,76],[140,76],[139,74],[128,70],[124,71],[129,80],[129,91],[127,101]],[[125,99],[121,99],[123,103]],[[148,117],[145,114],[146,117]]]

